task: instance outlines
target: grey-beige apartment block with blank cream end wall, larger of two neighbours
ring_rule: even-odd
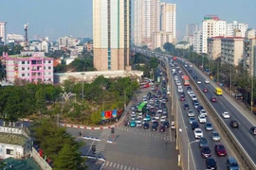
[[[244,38],[225,37],[221,39],[221,59],[232,65],[238,65],[243,59]]]

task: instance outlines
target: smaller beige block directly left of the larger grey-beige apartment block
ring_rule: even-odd
[[[208,56],[210,59],[221,57],[221,39],[224,36],[211,37],[208,39]]]

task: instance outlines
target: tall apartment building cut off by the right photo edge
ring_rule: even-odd
[[[243,66],[250,76],[256,76],[256,36],[255,29],[248,29],[245,34]]]

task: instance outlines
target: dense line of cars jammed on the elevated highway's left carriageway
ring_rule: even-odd
[[[176,73],[174,73],[174,80],[176,77]],[[182,75],[180,74],[182,77]],[[197,83],[202,83],[201,80],[198,80]],[[209,84],[209,81],[205,81],[206,84]],[[178,85],[177,85],[178,86]],[[204,90],[203,90],[204,91]],[[208,91],[207,88],[205,88],[205,91]],[[186,102],[186,94],[184,92],[179,92],[180,95],[180,101],[181,102]],[[183,105],[183,109],[187,110],[187,116],[189,119],[189,124],[192,126],[192,131],[195,139],[197,140],[201,152],[201,157],[206,159],[206,166],[209,169],[217,169],[217,162],[211,157],[211,150],[210,150],[210,145],[208,143],[208,140],[204,137],[204,131],[202,128],[200,128],[200,125],[204,125],[204,128],[206,131],[210,131],[210,138],[213,142],[217,142],[214,144],[214,151],[216,155],[218,156],[226,156],[227,155],[227,150],[223,144],[220,143],[220,135],[218,134],[217,131],[215,131],[210,124],[210,122],[207,120],[207,111],[201,106],[198,102],[198,99],[195,95],[195,93],[192,92],[192,88],[190,86],[187,87],[187,94],[192,100],[192,106],[190,106],[188,103],[185,103]],[[195,115],[194,110],[196,110],[198,115]],[[197,117],[197,118],[196,118]],[[227,167],[228,169],[233,169],[237,168],[239,169],[237,161],[235,161],[232,158],[228,158],[227,161]]]

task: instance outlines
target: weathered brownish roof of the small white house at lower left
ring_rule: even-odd
[[[0,143],[23,145],[26,141],[27,137],[23,135],[0,132]]]

